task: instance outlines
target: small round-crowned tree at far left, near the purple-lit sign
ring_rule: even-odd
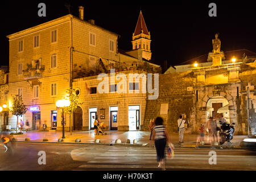
[[[16,123],[16,133],[18,131],[18,122],[19,116],[22,116],[27,111],[26,105],[23,104],[22,97],[16,95],[13,97],[13,108],[11,109],[11,114],[16,115],[17,123]]]

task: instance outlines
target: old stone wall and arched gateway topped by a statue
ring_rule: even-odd
[[[218,40],[216,36],[208,55],[185,61],[159,76],[159,98],[147,101],[144,130],[151,118],[160,116],[170,131],[177,132],[177,119],[184,114],[186,132],[199,133],[201,123],[209,117],[219,121],[223,115],[236,123],[236,134],[245,135],[249,87],[250,134],[256,133],[256,53],[246,49],[222,52]]]

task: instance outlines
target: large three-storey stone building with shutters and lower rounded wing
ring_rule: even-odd
[[[142,21],[141,16],[142,13],[138,22]],[[145,28],[146,24],[142,24],[141,32],[136,28],[140,32],[138,36],[144,36]],[[105,73],[110,80],[110,69],[127,76],[135,72],[145,75],[160,72],[160,66],[148,61],[151,54],[144,53],[151,52],[150,36],[147,36],[146,50],[119,50],[119,35],[97,26],[94,20],[85,21],[84,8],[80,6],[79,18],[66,15],[7,38],[10,44],[8,107],[12,107],[13,96],[22,96],[28,111],[20,119],[30,122],[32,130],[42,130],[44,124],[47,130],[62,130],[61,110],[56,108],[56,101],[63,100],[71,87],[80,95],[81,104],[73,115],[65,114],[65,130],[69,130],[70,123],[73,130],[92,129],[93,115],[102,118],[108,129],[130,130],[129,122],[133,123],[133,130],[140,129],[146,94],[113,94],[117,92],[115,81],[109,85],[114,91],[99,94],[97,75]],[[141,89],[139,81],[127,81],[127,84],[135,92]],[[128,119],[129,112],[133,113],[130,116],[133,121]],[[9,124],[13,128],[16,125],[16,118],[10,113]]]

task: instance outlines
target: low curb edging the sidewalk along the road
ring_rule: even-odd
[[[150,147],[148,143],[141,143],[141,144],[132,144],[132,143],[77,143],[77,142],[33,142],[33,141],[13,141],[16,143],[44,143],[44,144],[81,144],[81,145],[89,145],[89,144],[95,144],[95,145],[105,145],[105,146],[134,146],[134,147]],[[146,145],[145,145],[146,144]],[[175,148],[212,148],[212,146],[175,146]],[[220,149],[221,146],[214,146],[213,149]],[[222,146],[222,149],[236,149],[236,150],[245,150],[244,147],[238,147],[238,146]]]

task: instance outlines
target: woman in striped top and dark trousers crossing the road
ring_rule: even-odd
[[[163,118],[156,118],[154,124],[153,139],[155,140],[158,167],[162,167],[162,170],[165,171],[165,148],[166,143],[170,142],[170,138],[166,126],[163,125]]]

